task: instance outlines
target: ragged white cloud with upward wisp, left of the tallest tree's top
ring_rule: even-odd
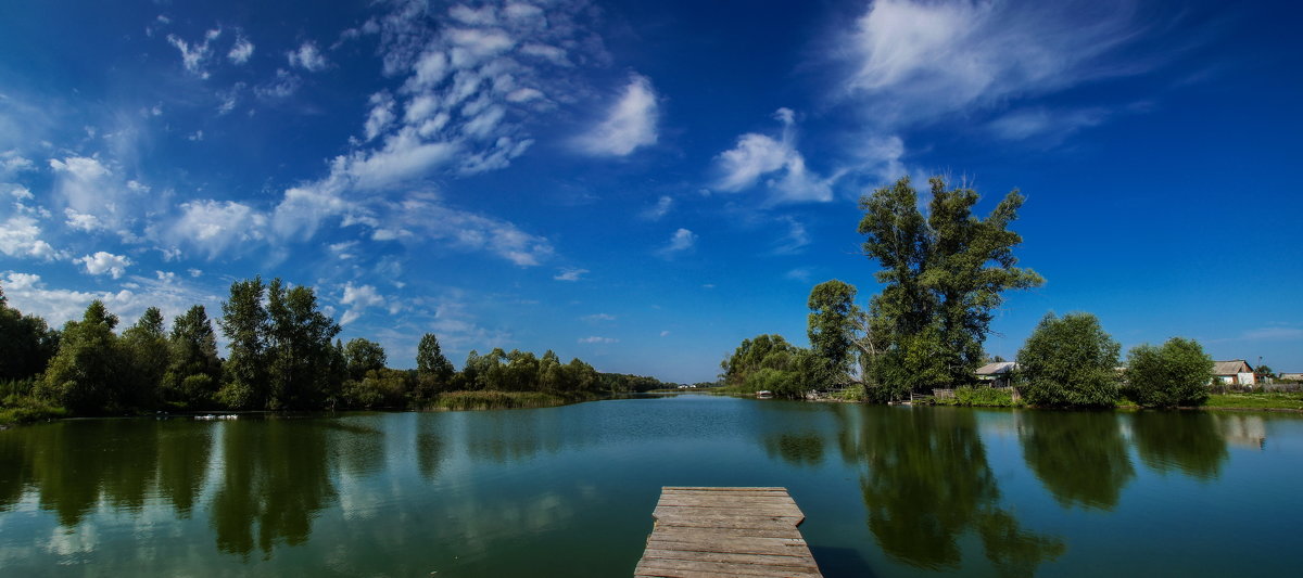
[[[715,158],[719,177],[715,189],[736,193],[756,186],[761,177],[771,193],[771,202],[827,202],[833,199],[833,178],[823,178],[805,167],[805,158],[796,150],[796,115],[788,108],[774,113],[783,125],[782,137],[747,133],[737,143]]]

